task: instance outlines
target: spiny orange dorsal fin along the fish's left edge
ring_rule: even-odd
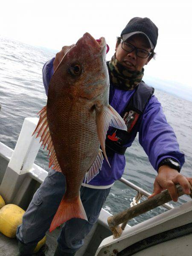
[[[49,126],[47,123],[47,106],[43,107],[41,111],[39,111],[38,115],[40,117],[39,122],[32,136],[34,134],[37,134],[36,138],[41,137],[41,140],[40,140],[40,142],[42,141],[41,146],[44,146],[45,148],[47,145],[47,150],[49,151],[48,153],[48,157],[50,157],[49,167],[52,166],[52,169],[54,169],[57,172],[61,172],[61,168],[59,166],[59,163],[57,161],[57,157],[55,154],[54,145],[52,143],[51,134],[49,132]]]

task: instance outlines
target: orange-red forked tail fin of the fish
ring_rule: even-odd
[[[56,227],[59,227],[71,218],[81,218],[87,221],[87,215],[82,205],[80,195],[76,196],[71,201],[66,200],[65,196],[62,198],[49,231],[52,232]]]

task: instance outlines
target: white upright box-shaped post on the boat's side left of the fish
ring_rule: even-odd
[[[41,146],[40,138],[32,136],[38,123],[38,118],[25,118],[20,131],[15,150],[9,161],[8,167],[17,172],[18,175],[29,172],[33,168],[35,157]]]

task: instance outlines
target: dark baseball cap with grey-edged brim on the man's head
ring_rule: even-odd
[[[125,41],[134,34],[143,34],[148,39],[151,49],[156,47],[158,28],[149,18],[132,18],[121,32],[121,37]]]

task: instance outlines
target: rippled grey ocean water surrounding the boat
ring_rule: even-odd
[[[15,148],[24,118],[37,117],[38,111],[46,105],[42,67],[52,57],[54,53],[51,51],[0,36],[0,103],[2,105],[0,141],[12,149]],[[155,81],[151,81],[149,85],[155,87]],[[162,90],[155,90],[155,95],[163,106],[167,121],[175,131],[180,150],[185,154],[186,162],[181,173],[190,177],[192,176],[192,102]],[[138,138],[125,155],[126,167],[123,177],[152,192],[157,173],[150,165]],[[39,150],[35,163],[48,170],[46,151]],[[112,214],[118,213],[130,207],[135,195],[133,189],[116,181],[104,209]],[[183,195],[177,203],[171,202],[171,204],[176,206],[189,200],[189,196]],[[137,224],[165,210],[163,207],[158,207],[129,221],[128,224]]]

